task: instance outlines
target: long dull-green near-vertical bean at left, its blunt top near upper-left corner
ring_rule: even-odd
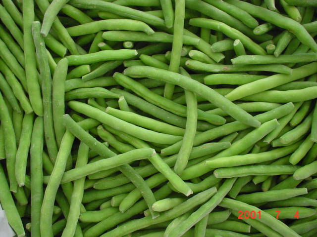
[[[40,68],[40,78],[42,79],[45,140],[50,159],[54,161],[57,156],[57,144],[53,127],[52,77],[48,64],[44,39],[40,35],[40,22],[32,23],[32,35],[37,52],[37,61]]]

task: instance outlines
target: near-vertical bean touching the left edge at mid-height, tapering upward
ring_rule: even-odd
[[[0,118],[1,118],[1,127],[3,127],[4,136],[4,149],[5,149],[5,158],[6,158],[6,169],[9,177],[10,191],[17,191],[17,181],[15,178],[15,156],[16,156],[16,141],[15,133],[12,124],[12,119],[6,106],[2,94],[0,92]]]

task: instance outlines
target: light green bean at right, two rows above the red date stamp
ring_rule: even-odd
[[[258,154],[246,154],[246,155],[238,155],[231,157],[221,157],[215,158],[206,161],[206,165],[211,168],[221,168],[221,167],[233,167],[240,165],[247,165],[253,163],[262,163],[265,161],[281,158],[287,156],[300,146],[299,143],[295,143],[294,145],[282,147],[278,149],[274,149],[268,152],[258,153]]]

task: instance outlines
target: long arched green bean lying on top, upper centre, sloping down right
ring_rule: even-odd
[[[148,76],[149,78],[154,78],[154,79],[164,79],[164,81],[169,81],[172,83],[182,85],[185,89],[191,90],[193,92],[198,92],[199,95],[208,98],[212,103],[214,103],[217,106],[221,106],[223,110],[225,110],[228,114],[230,114],[234,118],[238,118],[238,120],[241,120],[247,124],[251,124],[255,127],[259,126],[259,121],[256,119],[252,118],[250,115],[248,115],[246,112],[242,111],[238,107],[233,107],[232,103],[228,103],[229,101],[223,100],[223,97],[214,92],[212,89],[205,87],[203,84],[191,80],[185,76],[178,75],[176,73],[172,72],[167,72],[165,70],[161,69],[155,69],[152,67],[147,67],[147,66],[134,66],[126,69],[124,71],[126,75],[133,75],[133,76]],[[158,75],[164,75],[162,78],[158,78]],[[182,79],[182,80],[177,80],[177,79]],[[230,111],[229,111],[230,108]],[[250,118],[251,117],[251,118]]]

